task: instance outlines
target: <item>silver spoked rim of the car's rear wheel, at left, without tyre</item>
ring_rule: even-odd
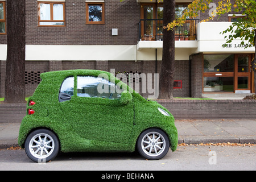
[[[38,159],[47,158],[54,150],[54,141],[48,134],[40,133],[31,138],[30,153]]]

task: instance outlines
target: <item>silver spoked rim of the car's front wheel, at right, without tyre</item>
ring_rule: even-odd
[[[149,156],[158,156],[162,154],[166,146],[166,140],[158,132],[150,132],[144,135],[141,147],[145,154]]]

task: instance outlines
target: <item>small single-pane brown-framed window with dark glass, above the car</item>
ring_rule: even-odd
[[[86,2],[86,24],[104,24],[104,2]]]

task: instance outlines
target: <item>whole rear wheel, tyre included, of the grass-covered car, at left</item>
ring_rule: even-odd
[[[32,131],[25,141],[25,151],[31,160],[46,163],[53,160],[59,153],[59,139],[50,130],[38,129]]]

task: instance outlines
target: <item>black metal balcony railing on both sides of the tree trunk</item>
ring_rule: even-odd
[[[183,26],[175,27],[175,40],[197,40],[197,23],[199,23],[199,19],[187,19]],[[140,40],[163,40],[163,19],[139,20]]]

